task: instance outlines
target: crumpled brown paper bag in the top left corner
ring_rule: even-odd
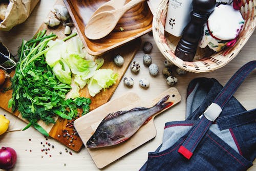
[[[0,30],[9,31],[29,17],[39,0],[10,0]]]

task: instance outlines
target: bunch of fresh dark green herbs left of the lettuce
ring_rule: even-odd
[[[46,35],[46,31],[39,31],[31,40],[22,42],[19,47],[19,62],[12,78],[12,98],[9,108],[18,110],[22,117],[29,121],[43,135],[48,133],[37,123],[38,120],[46,124],[55,123],[55,116],[65,119],[77,116],[77,109],[82,109],[82,115],[90,110],[90,98],[79,97],[65,99],[71,86],[61,83],[47,65],[45,54],[49,40],[56,38],[55,34]]]

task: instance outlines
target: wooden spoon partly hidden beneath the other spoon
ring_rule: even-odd
[[[111,11],[118,8],[121,8],[125,4],[126,0],[111,0],[104,4],[102,4],[91,16],[95,16],[98,13],[104,12],[104,11]]]

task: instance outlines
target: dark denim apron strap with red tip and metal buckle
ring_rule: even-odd
[[[193,126],[186,140],[178,149],[185,158],[190,159],[197,145],[208,131],[211,124],[219,117],[228,100],[237,91],[244,79],[256,68],[256,60],[246,63],[226,83],[215,100],[209,105],[197,123]]]

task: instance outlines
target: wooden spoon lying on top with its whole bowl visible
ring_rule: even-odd
[[[119,9],[96,14],[89,20],[84,34],[92,40],[105,37],[116,27],[118,20],[126,11],[143,1],[145,0],[132,0]]]

